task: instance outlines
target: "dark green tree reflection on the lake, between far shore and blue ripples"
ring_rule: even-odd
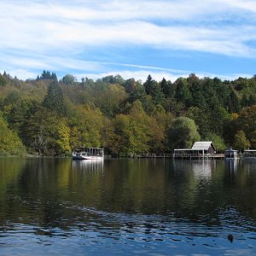
[[[37,217],[32,219],[47,223],[61,218],[62,206],[69,202],[193,220],[233,206],[255,218],[253,168],[251,162],[215,160],[2,160],[1,214],[20,218],[24,213],[27,218],[31,213]]]

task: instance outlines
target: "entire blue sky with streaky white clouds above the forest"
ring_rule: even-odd
[[[252,77],[256,1],[2,0],[0,73]]]

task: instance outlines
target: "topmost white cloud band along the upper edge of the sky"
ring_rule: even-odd
[[[2,9],[15,18],[38,17],[61,20],[214,20],[229,18],[235,12],[255,13],[254,1],[249,0],[108,0],[108,1],[2,1]],[[20,10],[20,11],[19,11]],[[229,12],[227,12],[229,11]],[[241,15],[241,14],[240,14]]]

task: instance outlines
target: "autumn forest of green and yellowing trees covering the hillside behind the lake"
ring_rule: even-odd
[[[82,145],[112,156],[172,153],[195,141],[218,152],[256,148],[256,76],[143,83],[121,76],[26,81],[0,74],[0,155],[70,156]]]

